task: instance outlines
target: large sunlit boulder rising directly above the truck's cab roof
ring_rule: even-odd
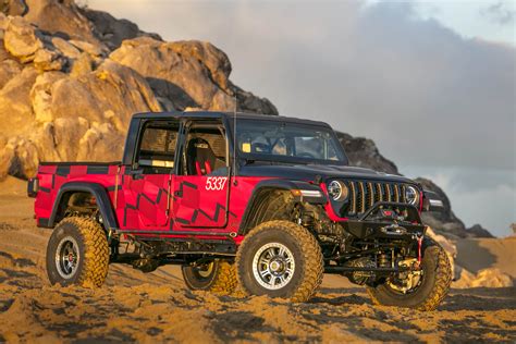
[[[168,110],[232,111],[236,101],[239,111],[278,114],[267,99],[233,86],[228,56],[209,42],[163,42],[139,37],[123,41],[109,58],[145,76]]]

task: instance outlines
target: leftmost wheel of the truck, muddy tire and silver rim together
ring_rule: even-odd
[[[108,267],[108,241],[98,222],[74,217],[56,226],[47,246],[51,284],[101,286]]]

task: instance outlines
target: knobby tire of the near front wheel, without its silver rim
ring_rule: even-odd
[[[293,254],[295,270],[290,282],[279,290],[268,290],[259,284],[253,273],[255,254],[269,243],[280,243]],[[238,284],[244,294],[308,300],[322,282],[323,261],[319,243],[305,228],[284,220],[261,223],[244,238],[236,253]]]

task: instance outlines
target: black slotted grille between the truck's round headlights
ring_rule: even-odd
[[[405,185],[400,183],[378,183],[366,181],[349,181],[349,202],[347,214],[361,214],[377,201],[406,202]]]

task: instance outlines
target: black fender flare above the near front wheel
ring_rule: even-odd
[[[246,232],[248,232],[249,229],[247,226],[254,217],[254,209],[256,207],[257,201],[259,200],[261,192],[263,191],[308,191],[314,192],[316,194],[317,192],[319,192],[320,196],[306,196],[303,194],[294,195],[293,193],[294,201],[305,201],[315,205],[325,205],[328,202],[328,198],[324,195],[324,192],[319,187],[319,185],[316,184],[311,184],[304,181],[290,181],[281,179],[261,181],[255,186],[249,201],[247,202],[244,216],[242,217],[241,225],[238,228],[238,234],[245,234]]]

